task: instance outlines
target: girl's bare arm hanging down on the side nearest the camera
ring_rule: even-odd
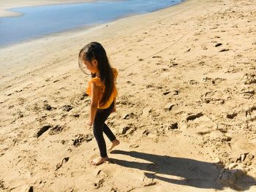
[[[92,126],[94,124],[94,118],[97,112],[97,107],[99,103],[99,87],[95,85],[94,82],[91,82],[91,113],[90,113],[90,120],[89,120],[89,126]]]

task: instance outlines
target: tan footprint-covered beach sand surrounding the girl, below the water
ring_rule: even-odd
[[[191,0],[1,48],[0,191],[256,191],[255,6]],[[120,74],[121,144],[100,166],[77,61],[91,41]]]

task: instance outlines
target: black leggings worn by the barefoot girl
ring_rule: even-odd
[[[110,107],[108,107],[107,109],[98,109],[94,118],[94,137],[97,140],[100,156],[102,158],[105,158],[107,156],[107,149],[105,139],[103,137],[103,132],[107,135],[108,139],[110,139],[111,142],[116,139],[116,136],[105,124],[105,120],[107,120],[108,116],[112,112],[113,107],[114,101],[112,104],[110,104]]]

